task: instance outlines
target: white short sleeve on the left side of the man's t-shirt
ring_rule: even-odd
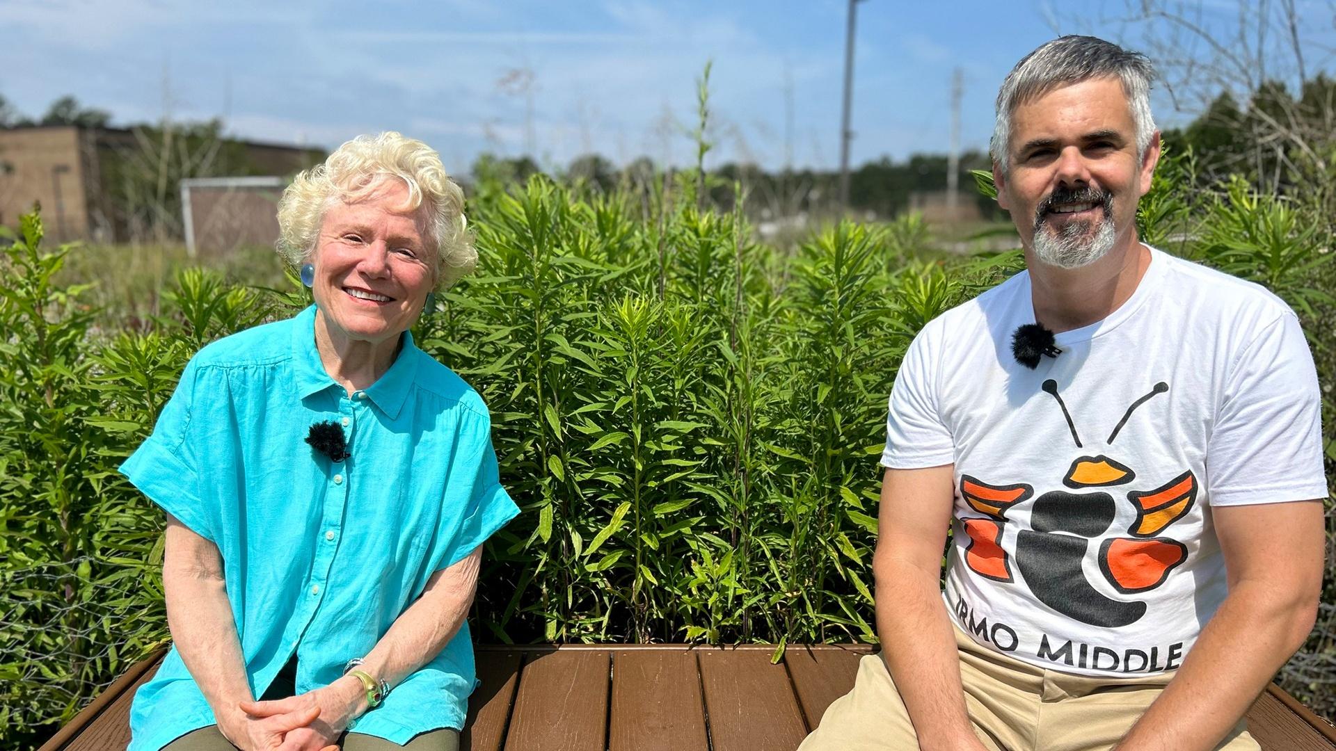
[[[941,327],[929,323],[910,342],[895,374],[886,418],[882,466],[918,469],[955,461],[955,442],[938,410],[937,362]]]

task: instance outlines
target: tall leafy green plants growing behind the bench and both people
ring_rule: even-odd
[[[1182,190],[1189,172],[1190,155],[1165,163],[1141,231],[1300,311],[1332,476],[1331,230],[1242,184]],[[921,227],[851,223],[779,253],[695,190],[685,175],[573,195],[534,176],[470,207],[480,270],[415,337],[482,392],[522,508],[488,544],[482,640],[875,640],[876,454],[899,358],[1019,254],[927,261]],[[191,353],[309,299],[295,281],[265,291],[188,270],[160,315],[108,335],[87,286],[55,281],[72,250],[43,253],[40,234],[25,218],[0,262],[5,746],[166,644],[160,513],[115,468]],[[1336,613],[1323,619],[1284,676],[1331,712]]]

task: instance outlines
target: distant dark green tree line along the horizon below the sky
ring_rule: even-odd
[[[0,128],[25,126],[83,126],[106,128],[111,114],[83,106],[73,96],[61,96],[51,103],[40,118],[28,118],[0,95]],[[163,191],[175,194],[175,180],[188,176],[255,174],[244,160],[244,150],[236,139],[223,135],[223,122],[142,123],[130,126],[140,148],[138,155],[124,154],[112,171],[116,172],[111,191],[114,199],[131,202],[142,199],[143,191],[134,190],[134,180],[120,176],[124,171],[152,174],[155,182],[163,172],[154,154],[166,154],[167,142],[175,142],[171,151],[184,154],[180,162],[167,170],[172,186]],[[1164,134],[1169,150],[1189,152],[1196,170],[1208,179],[1244,175],[1260,190],[1288,194],[1300,186],[1316,190],[1319,199],[1336,208],[1336,79],[1317,73],[1303,82],[1292,94],[1287,84],[1268,80],[1240,102],[1228,91],[1220,94],[1188,124],[1169,128]],[[949,158],[945,154],[914,154],[906,159],[883,155],[863,163],[850,175],[848,210],[864,216],[891,218],[911,210],[915,196],[937,194],[947,188]],[[971,172],[989,170],[986,151],[970,150],[961,155],[958,200],[974,203],[985,219],[999,219],[995,202],[971,190]],[[568,183],[581,183],[600,192],[616,187],[648,186],[660,180],[671,167],[656,164],[640,156],[617,166],[600,154],[585,154],[569,164],[540,166],[534,158],[514,158],[482,154],[464,176],[473,183],[512,184],[530,175],[548,172]],[[127,187],[128,186],[128,187]],[[709,170],[705,186],[707,199],[723,210],[731,210],[744,198],[747,214],[754,219],[771,219],[808,214],[834,214],[838,204],[839,174],[820,168],[767,170],[744,162],[728,162]],[[175,208],[175,207],[172,207]],[[160,212],[159,212],[160,214]],[[158,224],[164,222],[158,220]],[[170,224],[170,222],[166,222]],[[159,233],[160,234],[160,233]],[[168,235],[172,233],[168,231]]]

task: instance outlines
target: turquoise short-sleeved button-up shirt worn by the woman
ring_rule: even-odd
[[[343,428],[345,461],[305,441],[327,420]],[[218,545],[255,696],[294,653],[299,694],[338,679],[428,577],[518,513],[478,394],[405,333],[385,376],[349,396],[321,365],[314,306],[202,349],[120,470]],[[351,730],[402,744],[462,728],[474,684],[465,623]],[[135,694],[130,748],[158,751],[210,724],[174,647]]]

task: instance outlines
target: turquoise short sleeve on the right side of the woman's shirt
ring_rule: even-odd
[[[460,453],[462,461],[456,461],[445,478],[442,527],[449,532],[438,536],[429,557],[429,571],[450,568],[464,560],[520,513],[501,486],[490,420],[477,421],[460,438],[472,450]]]

